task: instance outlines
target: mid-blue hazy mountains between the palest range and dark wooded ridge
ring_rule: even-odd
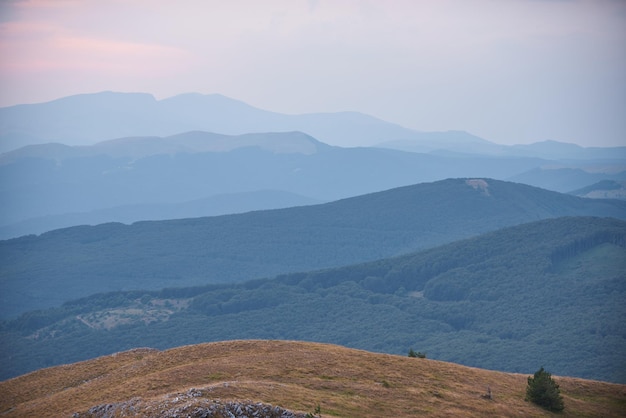
[[[194,131],[94,145],[31,145],[0,154],[0,198],[7,202],[0,208],[0,238],[281,208],[451,177],[514,179],[561,192],[626,179],[626,171],[542,168],[555,164],[563,165],[530,157],[340,148],[300,132]]]

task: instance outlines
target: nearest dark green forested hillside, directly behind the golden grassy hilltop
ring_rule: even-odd
[[[354,266],[29,312],[1,323],[2,377],[134,347],[261,338],[626,383],[625,298],[626,222],[548,219]]]

